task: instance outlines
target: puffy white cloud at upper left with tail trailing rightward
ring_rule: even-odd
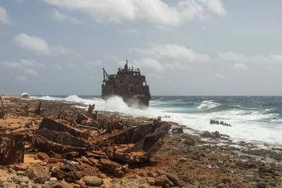
[[[71,54],[73,56],[81,56],[77,51],[66,49],[63,46],[50,47],[47,41],[41,37],[20,34],[13,38],[13,42],[23,49],[35,51],[37,54],[52,56]]]

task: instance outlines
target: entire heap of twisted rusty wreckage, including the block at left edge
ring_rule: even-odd
[[[28,134],[0,134],[0,163],[23,163],[25,141],[42,151],[65,154],[75,151],[79,156],[140,163],[161,148],[170,128],[170,124],[161,120],[125,127],[122,120],[98,118],[92,112],[87,116],[80,113],[71,125],[44,118],[39,128],[30,129]]]

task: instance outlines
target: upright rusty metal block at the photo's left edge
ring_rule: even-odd
[[[0,164],[23,163],[24,134],[0,134]]]

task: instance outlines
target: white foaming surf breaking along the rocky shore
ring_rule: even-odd
[[[276,123],[273,118],[277,117],[275,113],[265,113],[265,111],[254,111],[251,109],[233,109],[228,111],[201,113],[204,109],[211,109],[219,106],[220,104],[213,101],[202,101],[197,106],[193,113],[176,113],[179,108],[168,107],[149,107],[144,110],[137,108],[130,108],[124,103],[123,99],[119,96],[114,96],[111,99],[104,101],[100,98],[93,97],[91,99],[82,99],[79,96],[67,96],[66,98],[59,98],[53,96],[32,96],[35,99],[45,100],[61,100],[69,102],[78,102],[82,104],[95,104],[95,108],[101,111],[118,111],[128,115],[145,116],[148,118],[157,118],[158,116],[164,117],[165,115],[170,118],[163,118],[164,120],[171,120],[182,125],[187,125],[195,130],[200,131],[219,131],[221,134],[228,134],[233,139],[245,141],[259,141],[268,142],[271,144],[282,144],[282,128],[281,125]],[[150,101],[157,106],[157,103],[166,103],[167,101]],[[183,109],[183,108],[182,108]],[[232,127],[222,125],[210,125],[209,120],[223,120],[230,123]],[[268,119],[269,121],[264,121]],[[271,120],[273,119],[273,120]],[[280,119],[279,119],[280,120]],[[272,123],[272,121],[274,123]],[[278,120],[277,120],[278,121]]]

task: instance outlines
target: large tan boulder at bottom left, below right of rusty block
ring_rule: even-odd
[[[51,177],[47,168],[43,168],[37,164],[30,165],[25,173],[25,175],[30,177],[30,180],[35,181],[35,183],[43,183]]]

